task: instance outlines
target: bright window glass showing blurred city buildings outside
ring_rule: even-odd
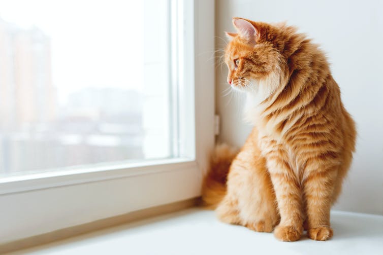
[[[19,2],[0,2],[1,175],[179,157],[176,2]]]

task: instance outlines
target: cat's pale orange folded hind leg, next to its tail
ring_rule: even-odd
[[[279,220],[266,160],[261,156],[254,129],[233,161],[228,194],[237,199],[241,225],[258,232],[272,232]]]

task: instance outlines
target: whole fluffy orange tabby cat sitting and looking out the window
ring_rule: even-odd
[[[355,150],[355,123],[324,53],[296,28],[242,18],[225,52],[228,83],[254,125],[237,154],[215,151],[203,199],[221,221],[282,241],[328,240],[330,207]]]

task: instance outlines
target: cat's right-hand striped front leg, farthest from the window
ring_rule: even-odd
[[[338,166],[324,158],[307,161],[303,191],[306,201],[307,235],[313,240],[325,241],[333,236],[330,228],[330,208],[337,178]]]

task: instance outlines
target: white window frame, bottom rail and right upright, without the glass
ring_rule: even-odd
[[[113,169],[48,172],[0,179],[0,244],[200,196],[214,146],[214,1],[185,1],[185,51],[194,62],[184,76],[194,98],[195,160],[178,158]],[[186,29],[187,30],[187,29]],[[194,69],[194,71],[192,71]],[[193,86],[194,85],[194,86]],[[186,88],[187,89],[187,88]],[[194,94],[194,97],[193,97]]]

